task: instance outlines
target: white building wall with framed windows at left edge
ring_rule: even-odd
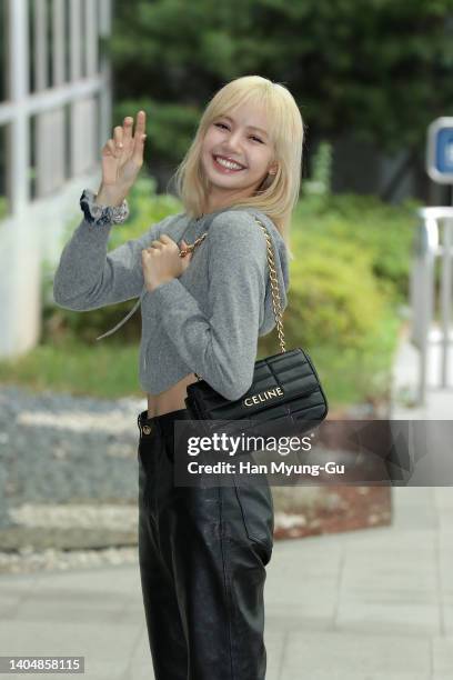
[[[0,127],[7,130],[10,210],[0,220],[1,358],[39,340],[42,261],[58,259],[81,189],[98,188],[100,150],[111,129],[110,67],[98,53],[99,36],[110,32],[111,0],[6,1],[9,91],[0,101]]]

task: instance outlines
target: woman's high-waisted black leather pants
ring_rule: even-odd
[[[185,409],[138,417],[139,560],[155,680],[263,680],[271,489],[175,486],[173,423],[189,418]]]

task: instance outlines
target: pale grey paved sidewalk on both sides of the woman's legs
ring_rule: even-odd
[[[413,372],[403,341],[396,388]],[[430,389],[423,411],[392,418],[447,418],[452,401]],[[453,494],[394,487],[392,502],[390,527],[275,541],[266,680],[452,680]],[[1,576],[0,611],[1,656],[84,656],[89,680],[153,679],[138,563]]]

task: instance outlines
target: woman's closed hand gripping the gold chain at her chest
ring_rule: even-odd
[[[181,240],[181,250],[188,243]],[[152,241],[149,248],[142,250],[142,269],[147,289],[153,291],[161,283],[171,281],[180,277],[189,267],[192,253],[188,252],[184,258],[180,258],[178,243],[167,233],[163,233],[159,241]]]

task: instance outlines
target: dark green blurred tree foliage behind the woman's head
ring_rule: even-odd
[[[229,80],[286,84],[309,134],[420,151],[453,98],[451,0],[129,0],[105,43],[115,119],[149,112],[148,156],[178,163]],[[435,87],[434,84],[435,83]]]

